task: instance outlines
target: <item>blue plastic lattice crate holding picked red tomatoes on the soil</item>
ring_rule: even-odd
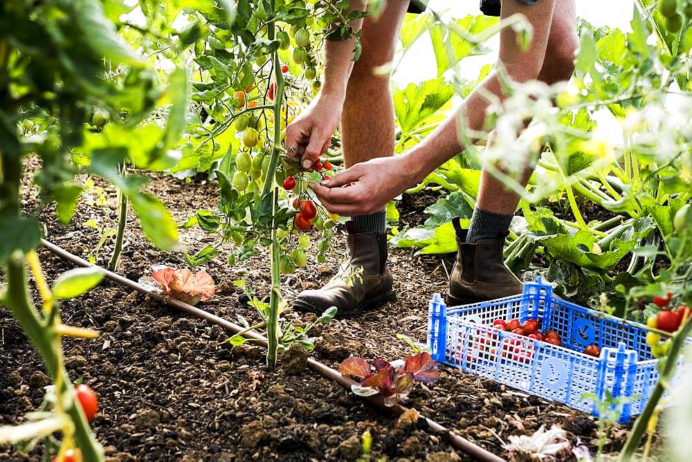
[[[492,326],[496,319],[540,321],[543,332],[560,334],[557,347]],[[621,422],[639,414],[658,380],[657,362],[646,343],[646,326],[624,324],[567,302],[540,278],[523,293],[477,304],[447,307],[435,294],[428,311],[432,358],[527,393],[598,415],[594,394],[606,390],[621,401]],[[597,344],[600,358],[582,353]],[[678,369],[678,375],[680,370]]]

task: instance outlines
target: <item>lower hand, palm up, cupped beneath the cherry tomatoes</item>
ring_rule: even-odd
[[[383,157],[359,163],[320,183],[310,183],[331,213],[366,215],[384,210],[387,203],[417,184],[405,156]]]

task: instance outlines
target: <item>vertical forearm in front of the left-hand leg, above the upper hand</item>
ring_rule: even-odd
[[[365,11],[367,0],[352,0],[348,10],[342,15],[346,17],[352,11]],[[361,30],[363,19],[349,22],[354,33]],[[325,72],[322,82],[323,93],[345,97],[346,86],[353,69],[354,48],[356,38],[325,41]]]

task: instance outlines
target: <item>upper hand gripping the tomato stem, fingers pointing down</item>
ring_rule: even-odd
[[[300,158],[304,170],[325,154],[331,134],[338,127],[343,97],[320,93],[318,98],[286,127],[284,149],[289,157]]]

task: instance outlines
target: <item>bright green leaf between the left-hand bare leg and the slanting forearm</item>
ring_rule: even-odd
[[[430,115],[435,114],[454,95],[452,86],[444,78],[426,80],[421,84],[408,84],[406,89],[394,90],[394,113],[404,133],[415,129]]]

